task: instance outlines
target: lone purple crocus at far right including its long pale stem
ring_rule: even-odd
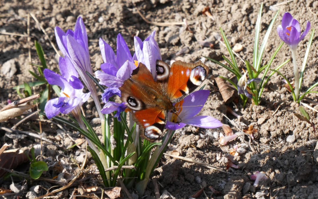
[[[299,22],[293,18],[289,12],[285,12],[281,25],[277,27],[277,33],[287,46],[292,51],[293,65],[294,65],[294,76],[295,76],[295,98],[296,101],[299,99],[300,92],[300,74],[297,66],[296,50],[299,42],[305,38],[310,29],[310,22],[307,21],[306,30],[301,34],[301,28]]]

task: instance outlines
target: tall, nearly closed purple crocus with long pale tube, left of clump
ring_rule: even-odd
[[[80,17],[77,19],[74,31],[67,30],[65,33],[57,26],[55,27],[54,32],[59,49],[65,57],[69,58],[74,68],[79,73],[79,76],[82,78],[84,84],[92,93],[92,98],[95,102],[97,112],[101,121],[103,121],[104,117],[100,111],[101,108],[96,86],[93,80],[86,74],[86,72],[88,72],[93,75],[93,70],[90,62],[88,39],[83,19]]]

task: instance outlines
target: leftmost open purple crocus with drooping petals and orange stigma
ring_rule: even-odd
[[[83,93],[83,84],[78,78],[78,73],[71,61],[65,57],[59,58],[59,68],[61,75],[49,69],[44,69],[43,73],[47,82],[51,85],[61,87],[60,97],[49,100],[45,104],[46,117],[51,119],[59,113],[80,115],[80,107],[87,101],[90,92]]]

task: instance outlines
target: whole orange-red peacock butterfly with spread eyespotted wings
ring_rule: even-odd
[[[146,66],[139,63],[119,88],[121,101],[127,103],[140,136],[149,141],[159,139],[168,119],[168,111],[176,113],[173,103],[180,102],[206,79],[209,68],[201,61],[175,61],[169,65],[156,61],[157,81]]]

